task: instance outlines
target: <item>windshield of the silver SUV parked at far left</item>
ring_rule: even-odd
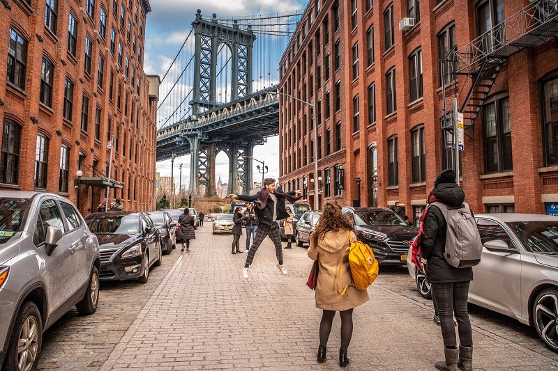
[[[0,244],[6,244],[21,232],[27,219],[29,198],[0,198]]]

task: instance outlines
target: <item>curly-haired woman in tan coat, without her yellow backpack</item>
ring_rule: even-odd
[[[349,267],[349,235],[356,239],[353,226],[347,216],[341,212],[338,203],[326,203],[324,212],[319,218],[312,235],[308,257],[319,262],[319,274],[316,285],[316,307],[323,310],[322,321],[319,323],[319,348],[317,362],[326,361],[326,346],[331,333],[331,325],[335,312],[341,317],[341,347],[339,349],[339,365],[347,366],[347,347],[353,333],[353,308],[368,301],[368,292],[347,287],[345,294],[338,294],[336,287],[342,290],[352,283]],[[338,269],[341,271],[338,277]],[[338,277],[338,279],[337,279]]]

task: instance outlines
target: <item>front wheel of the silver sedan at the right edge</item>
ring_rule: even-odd
[[[533,322],[538,336],[554,352],[558,352],[558,290],[541,291],[533,303]]]

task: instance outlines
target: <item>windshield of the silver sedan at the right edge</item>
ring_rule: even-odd
[[[513,221],[506,223],[531,253],[558,253],[558,222]]]

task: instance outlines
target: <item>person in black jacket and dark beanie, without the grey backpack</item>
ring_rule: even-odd
[[[448,207],[461,207],[465,193],[455,183],[455,172],[447,169],[439,173],[434,182],[433,196]],[[469,284],[473,279],[472,267],[455,268],[446,262],[446,230],[444,214],[436,205],[430,205],[425,214],[421,251],[427,260],[425,274],[432,284],[444,340],[445,361],[436,363],[437,370],[472,370],[473,336],[467,299]],[[453,326],[453,315],[458,323],[460,345],[458,348]]]

